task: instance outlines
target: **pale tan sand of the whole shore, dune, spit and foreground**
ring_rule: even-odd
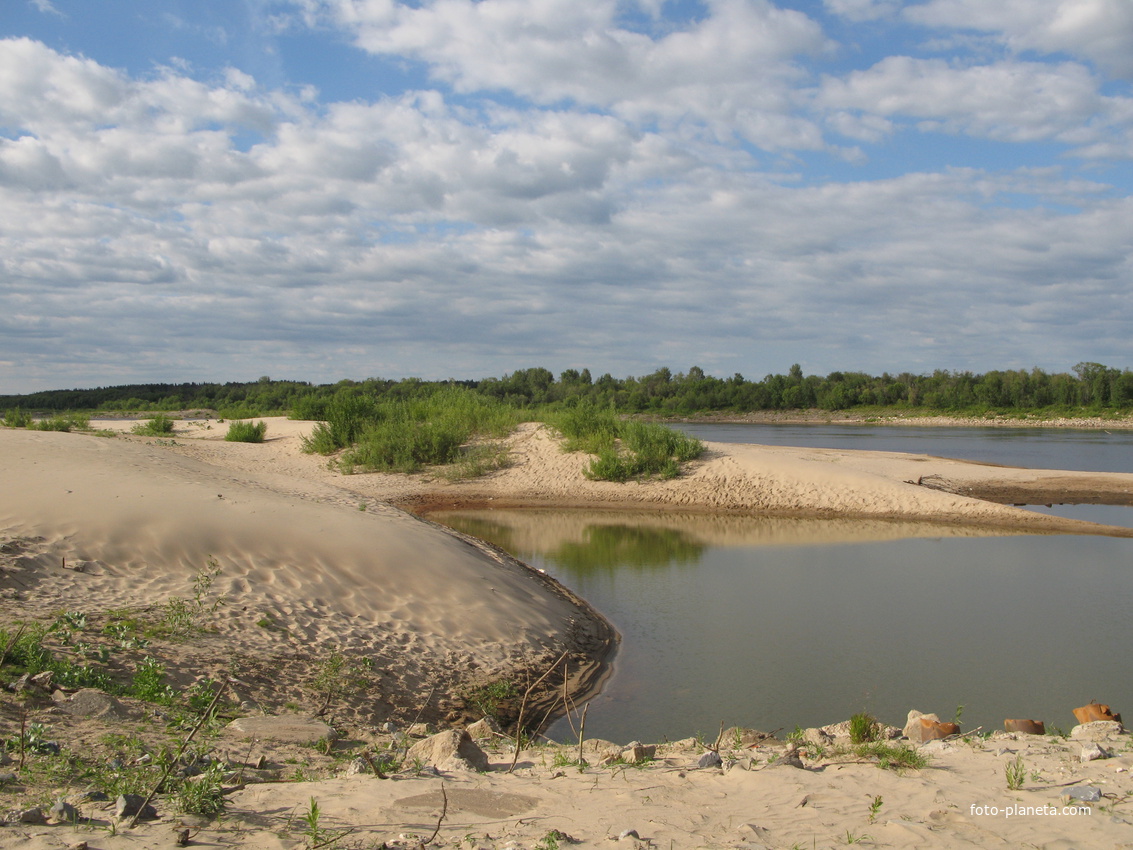
[[[698,766],[706,742],[662,747],[642,768],[598,766],[603,748],[628,742],[596,745],[579,770],[566,764],[569,750],[514,756],[499,736],[482,743],[486,772],[435,772],[425,759],[381,779],[356,764],[367,748],[408,747],[414,723],[444,730],[477,720],[478,688],[531,682],[560,656],[568,681],[548,679],[528,711],[543,712],[560,692],[580,699],[600,686],[616,644],[586,601],[550,577],[414,512],[491,504],[783,518],[776,534],[790,533],[790,518],[817,517],[832,528],[867,522],[879,539],[889,520],[961,533],[1133,536],[1010,504],[1130,504],[1133,475],[709,443],[681,478],[612,484],[586,479],[586,457],[563,453],[545,427],[528,424],[510,439],[509,468],[451,483],[433,474],[344,476],[300,451],[312,423],[266,422],[262,444],[224,442],[225,425],[207,419],[179,422],[164,440],[128,435],[129,420],[93,423],[117,436],[0,428],[0,626],[62,611],[85,612],[92,628],[116,611],[156,618],[170,598],[193,598],[202,570],[215,570],[204,600],[207,628],[144,652],[160,653],[179,688],[203,677],[235,679],[237,714],[317,715],[339,736],[320,751],[227,730],[218,751],[233,765],[263,756],[269,766],[256,775],[271,781],[249,782],[241,771],[222,824],[186,821],[199,830],[195,845],[314,847],[300,828],[312,798],[324,830],[351,831],[337,847],[417,847],[435,827],[431,845],[543,850],[551,850],[548,835],[560,847],[571,843],[564,836],[604,845],[629,830],[637,835],[620,847],[1133,845],[1125,802],[1133,747],[1116,733],[1101,740],[1113,757],[1097,760],[1080,760],[1084,739],[970,736],[926,745],[929,766],[905,772],[863,763],[833,742],[794,765],[784,742],[741,745],[740,736],[738,746],[718,748],[721,765],[706,767]],[[112,664],[126,670],[142,654],[123,652]],[[320,673],[333,657],[348,669],[367,660],[366,687],[324,700]],[[66,708],[73,697],[5,695],[2,733],[42,723],[65,746],[101,747],[108,758],[113,748],[93,742],[126,726],[151,741],[164,733],[144,704],[123,698],[117,714],[75,715]],[[1008,789],[1005,766],[1016,757],[1026,779]],[[280,781],[296,770],[315,781]],[[5,808],[76,792],[22,781],[0,784]],[[1079,785],[1101,789],[1090,814],[1034,814],[1039,806],[1062,813],[1067,789]],[[185,819],[162,804],[159,819],[112,830],[101,825],[111,818],[99,805],[83,806],[95,826],[10,825],[0,828],[0,847],[169,847]],[[1010,817],[1008,806],[1032,810]]]

